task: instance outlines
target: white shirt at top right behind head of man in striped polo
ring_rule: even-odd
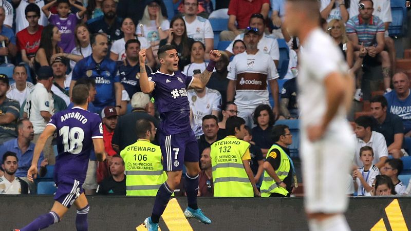
[[[379,17],[384,23],[393,22],[390,0],[373,0],[372,2],[374,3],[374,12],[372,12],[372,15]],[[359,14],[359,3],[360,0],[351,0],[350,9],[348,11],[350,18]]]

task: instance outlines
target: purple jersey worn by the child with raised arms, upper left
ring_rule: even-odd
[[[48,20],[60,30],[61,41],[59,46],[63,48],[65,53],[71,53],[74,47],[76,47],[74,29],[76,29],[76,25],[80,21],[77,14],[68,14],[66,18],[61,18],[58,14],[50,13]]]

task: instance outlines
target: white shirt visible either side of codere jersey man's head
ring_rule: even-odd
[[[226,48],[226,51],[233,54],[234,41],[238,39],[243,40],[244,34],[237,35],[231,42],[231,44]],[[274,37],[264,34],[263,37],[258,41],[257,48],[258,50],[269,54],[272,60],[279,60],[278,41]]]

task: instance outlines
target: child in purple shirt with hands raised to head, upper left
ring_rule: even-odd
[[[52,14],[49,8],[57,3],[58,14]],[[79,9],[76,14],[70,13],[70,7],[74,6]],[[64,53],[71,53],[76,47],[76,39],[74,38],[74,29],[80,23],[83,15],[86,13],[86,8],[79,5],[74,0],[54,0],[42,8],[44,14],[47,16],[49,22],[58,27],[60,30],[61,41],[59,46],[63,48]]]

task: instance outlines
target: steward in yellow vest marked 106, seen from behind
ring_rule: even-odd
[[[156,196],[167,180],[163,170],[160,146],[152,144],[156,128],[151,121],[137,121],[137,142],[121,151],[125,163],[126,196]]]

